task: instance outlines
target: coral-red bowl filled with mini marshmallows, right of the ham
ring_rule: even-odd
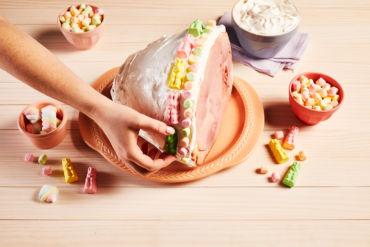
[[[332,77],[306,72],[297,75],[289,84],[289,103],[297,119],[315,125],[329,119],[342,105],[344,91]]]

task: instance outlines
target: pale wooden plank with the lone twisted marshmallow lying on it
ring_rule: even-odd
[[[370,219],[370,187],[201,189],[104,187],[99,188],[95,194],[84,194],[82,187],[70,187],[67,184],[66,187],[59,187],[59,196],[55,203],[51,203],[52,205],[38,200],[40,188],[0,187],[0,194],[6,198],[0,204],[0,218],[4,220]],[[150,203],[144,203],[144,200]]]

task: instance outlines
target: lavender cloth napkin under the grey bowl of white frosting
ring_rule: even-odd
[[[272,77],[276,76],[283,68],[295,70],[298,61],[302,58],[311,40],[311,34],[297,32],[286,44],[283,50],[269,59],[259,59],[250,56],[240,46],[235,31],[231,24],[231,12],[225,12],[217,25],[223,24],[229,35],[232,58],[252,69],[262,71]]]

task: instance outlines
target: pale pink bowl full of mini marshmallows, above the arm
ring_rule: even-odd
[[[69,43],[79,50],[90,50],[103,35],[104,11],[82,3],[63,10],[57,22]]]

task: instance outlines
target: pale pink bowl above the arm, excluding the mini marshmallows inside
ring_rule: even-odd
[[[89,4],[86,4],[86,6]],[[75,5],[76,8],[80,7],[80,5]],[[95,11],[98,7],[90,5],[92,8],[92,11]],[[65,12],[69,10],[69,7],[65,10],[63,10],[57,18],[57,23],[59,26],[60,31],[63,33],[65,39],[71,44],[73,44],[77,49],[80,50],[90,50],[94,48],[101,36],[103,35],[104,32],[104,23],[105,23],[105,17],[104,14],[102,15],[102,21],[101,24],[95,28],[94,30],[87,31],[84,33],[73,33],[70,31],[67,31],[62,28],[61,22],[59,20],[59,16],[63,15]]]

